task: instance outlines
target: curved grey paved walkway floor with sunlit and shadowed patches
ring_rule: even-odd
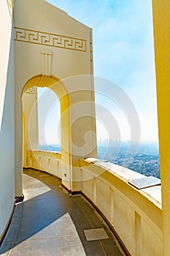
[[[24,170],[23,203],[15,207],[0,255],[123,255],[111,231],[82,195],[68,195],[61,181]],[[109,238],[87,241],[84,230],[104,228]]]

